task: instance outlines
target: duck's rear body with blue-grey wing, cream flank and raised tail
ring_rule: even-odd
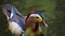
[[[11,4],[2,5],[2,11],[8,18],[9,30],[15,36],[24,36],[25,19],[26,16],[23,16]]]

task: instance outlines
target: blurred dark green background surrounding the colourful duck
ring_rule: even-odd
[[[0,0],[0,36],[13,36],[1,10],[2,4],[6,3],[16,6],[23,15],[30,10],[42,11],[49,24],[48,28],[41,26],[44,36],[65,36],[65,0]]]

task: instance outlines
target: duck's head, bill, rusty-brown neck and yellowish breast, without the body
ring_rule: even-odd
[[[43,36],[40,24],[48,26],[40,11],[30,11],[25,20],[26,36]],[[37,35],[34,35],[37,34]]]

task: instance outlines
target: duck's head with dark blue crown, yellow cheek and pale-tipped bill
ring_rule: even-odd
[[[35,22],[42,23],[43,25],[48,26],[48,24],[43,20],[43,15],[40,11],[30,11],[27,16],[27,19],[31,18]]]

